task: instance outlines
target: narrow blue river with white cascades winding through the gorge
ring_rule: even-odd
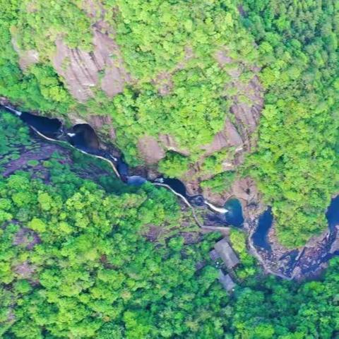
[[[42,138],[48,141],[57,141],[62,143],[68,143],[73,146],[77,150],[80,150],[82,153],[85,153],[90,156],[94,156],[109,162],[115,174],[121,181],[126,184],[133,186],[141,186],[145,182],[148,182],[148,179],[145,177],[141,177],[139,175],[130,175],[129,166],[124,161],[124,155],[117,152],[120,155],[112,155],[106,150],[102,150],[100,148],[100,141],[97,138],[97,135],[93,128],[88,124],[76,124],[71,129],[66,129],[65,126],[61,123],[59,119],[51,119],[47,117],[40,117],[35,114],[31,114],[29,112],[19,112],[9,105],[0,105],[5,108],[9,112],[16,114],[22,121],[30,126],[35,133],[40,135]],[[196,223],[203,228],[210,228],[210,230],[220,230],[222,227],[227,228],[227,226],[233,227],[242,227],[244,224],[244,216],[242,213],[242,204],[239,202],[237,198],[230,198],[225,206],[218,207],[214,206],[212,203],[206,201],[206,199],[201,195],[190,196],[187,194],[186,186],[179,179],[172,179],[166,177],[157,177],[153,181],[150,181],[155,186],[162,186],[166,189],[172,191],[173,194],[178,196],[182,201],[189,206],[192,210],[192,214]],[[201,225],[201,222],[196,217],[196,208],[208,208],[212,214],[209,215],[209,219],[218,224],[222,225],[222,227],[209,227]],[[339,224],[339,196],[333,198],[331,201],[331,206],[329,206],[326,218],[328,219],[328,227],[329,234],[327,242],[334,242],[335,234],[337,232],[336,225]],[[272,252],[272,246],[268,239],[268,234],[270,232],[270,228],[273,225],[273,215],[271,209],[268,208],[259,218],[258,224],[254,232],[252,232],[249,242],[254,245],[259,253],[261,253],[262,258],[259,261],[264,263],[264,257],[270,258]],[[328,244],[327,244],[328,245]],[[330,244],[331,245],[331,244]],[[328,246],[324,246],[326,248],[326,253],[321,254],[321,258],[317,261],[316,266],[320,266],[324,261],[328,261],[329,258],[334,255],[339,254],[338,251],[329,251]],[[325,250],[324,250],[325,251]],[[279,260],[288,259],[287,263],[285,261],[284,265],[286,266],[286,270],[284,274],[280,274],[279,271],[268,270],[270,273],[277,274],[282,276],[283,278],[291,278],[292,270],[296,267],[297,263],[301,261],[300,258],[304,255],[305,250],[298,251],[297,249],[292,251],[287,251],[284,253]],[[319,254],[320,255],[320,254]],[[258,256],[257,256],[258,257]],[[269,260],[274,261],[273,258]],[[264,265],[265,266],[265,265]],[[307,267],[304,268],[304,272],[307,273],[308,270],[313,269],[311,265],[307,264]]]

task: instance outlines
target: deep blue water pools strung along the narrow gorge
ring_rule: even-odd
[[[0,105],[1,107],[2,105]],[[117,167],[117,171],[121,179],[127,184],[133,186],[141,186],[147,182],[147,179],[141,176],[129,176],[129,166],[124,161],[124,155],[116,158],[100,149],[100,141],[97,135],[89,124],[76,124],[71,131],[64,131],[64,126],[59,119],[40,117],[29,112],[19,112],[13,107],[2,106],[4,109],[16,114],[26,124],[32,126],[34,129],[42,133],[48,138],[54,138],[55,140],[68,141],[75,148],[83,150],[91,155],[98,155],[105,157],[107,160],[114,162]],[[186,186],[179,179],[160,177],[155,179],[155,182],[161,182],[168,185],[177,194],[180,194],[194,206],[203,206],[206,201],[201,195],[189,196],[186,191]],[[244,217],[242,214],[242,205],[237,198],[231,198],[225,203],[224,206],[227,209],[227,213],[224,213],[222,219],[225,220],[226,225],[232,225],[234,227],[242,227],[244,223]],[[326,218],[328,220],[328,226],[330,230],[333,230],[335,225],[339,224],[339,196],[335,197],[331,201],[331,205],[326,212]],[[273,215],[270,208],[266,210],[258,220],[258,227],[253,234],[253,242],[255,246],[261,247],[270,251],[270,244],[268,243],[268,232],[273,224]]]

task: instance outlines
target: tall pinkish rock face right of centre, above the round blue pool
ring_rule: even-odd
[[[203,159],[225,148],[234,149],[234,157],[232,159],[225,159],[222,162],[222,169],[224,171],[235,169],[244,161],[246,153],[254,150],[256,146],[256,129],[263,109],[263,88],[256,75],[260,69],[245,63],[234,62],[227,54],[227,50],[220,50],[215,54],[215,59],[218,61],[220,67],[225,69],[231,81],[225,85],[226,92],[230,88],[236,88],[237,93],[230,95],[225,100],[230,100],[230,112],[227,112],[224,129],[215,134],[213,141],[208,145],[202,145],[201,149],[205,153],[201,159],[190,169],[189,175],[184,178],[189,194],[197,194],[201,180],[209,179],[208,177],[200,177],[199,169],[203,163]],[[253,74],[249,81],[242,79],[242,73],[251,72]],[[228,92],[227,92],[228,93]],[[232,93],[232,92],[230,92]],[[246,187],[240,189],[240,187]],[[234,195],[237,198],[242,198],[244,201],[251,200],[249,194],[244,194],[245,191],[257,191],[254,182],[240,180],[234,183],[229,194],[214,194],[210,190],[204,190],[206,195],[214,203],[219,205],[225,204],[225,201],[230,196]]]

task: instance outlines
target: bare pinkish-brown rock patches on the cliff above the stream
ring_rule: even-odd
[[[48,62],[54,67],[72,97],[80,104],[85,105],[88,100],[95,99],[98,91],[105,93],[108,100],[114,99],[126,87],[132,86],[138,92],[143,85],[143,80],[133,77],[131,74],[133,70],[128,70],[121,47],[117,44],[113,21],[107,20],[108,13],[102,1],[83,1],[82,6],[91,22],[92,49],[88,51],[81,47],[69,47],[64,36],[60,34],[54,41],[54,50],[49,54]],[[28,72],[30,65],[41,62],[40,51],[23,50],[14,35],[12,42],[23,71]],[[190,61],[197,61],[199,58],[189,45],[184,47],[183,53],[182,61],[168,71],[155,74],[150,79],[150,83],[157,88],[158,95],[161,97],[172,95],[175,74],[185,70],[186,64]],[[220,84],[225,91],[222,100],[225,100],[227,105],[225,105],[223,126],[219,126],[219,131],[215,133],[210,143],[201,145],[196,155],[179,145],[170,133],[158,133],[152,136],[146,134],[138,137],[136,142],[138,157],[141,157],[146,165],[153,167],[153,170],[168,151],[186,157],[193,156],[194,161],[190,163],[189,170],[181,177],[189,194],[201,193],[201,181],[215,175],[213,171],[208,173],[202,170],[207,157],[222,150],[232,151],[232,157],[227,156],[221,162],[222,171],[234,171],[244,162],[246,153],[251,152],[256,145],[256,129],[263,107],[263,88],[258,78],[260,69],[253,62],[234,59],[227,45],[214,53],[214,59],[221,72],[227,76],[225,84]],[[69,114],[73,122],[79,117],[81,114],[76,109]],[[116,126],[112,114],[98,115],[92,111],[81,119],[91,124],[101,136],[105,136],[105,141],[116,141]],[[154,123],[156,124],[156,121]],[[119,138],[124,138],[121,133],[119,135]],[[253,182],[239,179],[228,192],[215,194],[210,189],[204,189],[203,193],[211,201],[222,204],[232,194],[251,200],[253,191],[256,191]]]

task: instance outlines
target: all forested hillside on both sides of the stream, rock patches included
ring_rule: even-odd
[[[212,197],[254,179],[287,248],[326,229],[339,192],[338,1],[0,7],[1,98],[97,124],[130,165],[145,166],[141,141],[152,141],[162,146],[148,150],[161,153],[152,170]],[[76,151],[44,148],[0,111],[1,338],[338,336],[338,257],[315,281],[280,280],[232,230],[241,263],[227,294],[208,255],[218,239],[169,191],[131,188]]]

